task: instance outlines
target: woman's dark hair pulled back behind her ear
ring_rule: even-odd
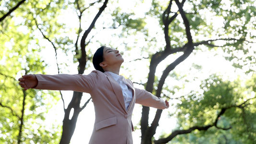
[[[92,63],[93,63],[94,68],[100,72],[104,72],[104,70],[102,69],[102,67],[99,64],[103,61],[103,49],[105,47],[106,46],[101,46],[100,48],[98,48],[92,58]]]

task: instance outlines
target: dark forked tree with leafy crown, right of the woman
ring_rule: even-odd
[[[249,2],[249,1],[247,1]],[[202,3],[196,3],[195,1],[179,1],[179,0],[170,0],[170,3],[161,6],[160,2],[154,1],[153,6],[151,8],[152,12],[151,14],[153,16],[158,17],[159,12],[162,13],[162,27],[165,37],[165,48],[163,50],[159,50],[157,53],[153,54],[151,56],[150,66],[149,66],[149,74],[148,74],[148,80],[146,83],[146,90],[149,92],[153,92],[154,84],[157,83],[157,90],[155,92],[156,96],[160,96],[163,85],[165,83],[165,80],[169,73],[183,60],[185,60],[194,49],[202,48],[201,45],[205,45],[208,48],[217,48],[222,47],[224,51],[229,53],[235,53],[238,49],[240,52],[246,53],[248,49],[251,48],[252,44],[252,38],[255,36],[248,36],[248,32],[246,29],[255,29],[255,27],[251,27],[249,25],[250,22],[253,21],[254,17],[251,17],[251,14],[247,14],[248,11],[255,10],[255,8],[250,7],[252,4],[243,2],[234,2],[236,5],[244,5],[247,7],[244,7],[243,9],[228,9],[227,5],[221,1],[214,0],[214,1],[205,1]],[[191,8],[183,8],[184,4],[187,5],[187,7]],[[175,9],[176,6],[176,12],[171,11],[172,9]],[[223,7],[223,9],[220,9]],[[225,7],[225,8],[224,8]],[[166,9],[164,9],[166,8]],[[213,14],[216,17],[221,17],[223,19],[223,26],[220,26],[219,28],[213,27],[213,24],[207,24],[205,23],[204,19],[205,16],[199,15],[202,11],[205,11],[206,8],[209,12],[209,14]],[[251,10],[252,9],[252,10]],[[222,16],[222,14],[225,13],[226,16]],[[232,17],[229,17],[227,14],[232,13]],[[246,14],[244,14],[246,13]],[[178,17],[180,16],[180,17]],[[237,24],[237,21],[242,20],[248,20],[244,21],[243,24]],[[248,27],[247,27],[248,26]],[[232,27],[232,28],[231,28]],[[235,28],[233,28],[235,27]],[[246,29],[243,29],[243,27],[247,27]],[[200,29],[207,29],[208,31],[200,31]],[[214,30],[218,30],[218,32],[225,32],[225,33],[216,33]],[[239,29],[239,30],[238,30]],[[237,31],[238,30],[238,31]],[[202,36],[204,36],[202,38]],[[208,38],[207,38],[208,37]],[[200,40],[202,39],[202,40]],[[247,40],[248,39],[248,40]],[[225,44],[218,45],[219,41],[224,41]],[[250,42],[251,41],[251,42]],[[242,43],[244,45],[242,45]],[[217,45],[216,45],[217,44]],[[230,50],[233,48],[233,50]],[[178,57],[174,62],[167,65],[166,69],[163,71],[161,78],[159,81],[155,80],[155,72],[157,69],[158,64],[167,58],[167,56],[183,52],[183,54]],[[253,52],[254,53],[254,52]],[[232,55],[232,54],[231,54]],[[231,58],[235,56],[228,56],[227,58]],[[252,53],[248,55],[249,58],[254,58]],[[236,59],[237,60],[237,59]],[[249,65],[255,65],[255,62],[246,60]],[[251,69],[252,67],[248,66],[248,69]],[[170,92],[168,92],[170,94]],[[141,133],[142,133],[142,144],[151,144],[152,137],[156,132],[158,121],[160,119],[162,110],[158,110],[154,120],[149,126],[148,121],[148,114],[149,114],[149,108],[143,107],[142,109],[142,119],[141,119]],[[224,111],[223,111],[224,113]],[[220,115],[222,113],[219,113]],[[217,120],[216,120],[217,122]],[[217,125],[212,125],[217,126]],[[209,126],[208,126],[209,127]],[[173,137],[175,137],[177,134],[182,133],[188,133],[192,132],[193,130],[207,130],[207,127],[200,127],[195,126],[191,127],[188,130],[183,131],[176,131],[172,132],[168,138],[162,140],[155,141],[155,143],[167,143],[171,141]]]

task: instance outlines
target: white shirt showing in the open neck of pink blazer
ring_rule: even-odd
[[[122,75],[118,75],[113,72],[110,72],[110,74],[122,88],[122,95],[125,103],[125,108],[127,110],[133,98],[133,90],[127,86],[125,78]]]

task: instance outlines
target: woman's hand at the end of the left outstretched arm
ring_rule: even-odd
[[[27,90],[29,88],[35,88],[38,84],[37,77],[34,74],[25,74],[21,78],[19,78],[19,81],[19,84],[22,88],[24,88],[24,90]]]

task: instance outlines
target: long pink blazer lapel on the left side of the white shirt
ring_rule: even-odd
[[[124,104],[124,99],[123,99],[123,96],[122,96],[121,86],[117,83],[117,81],[108,72],[104,72],[104,73],[108,75],[107,78],[110,81],[112,89],[113,89],[118,101],[120,102],[122,108],[124,109],[124,111],[126,111],[125,104]]]

